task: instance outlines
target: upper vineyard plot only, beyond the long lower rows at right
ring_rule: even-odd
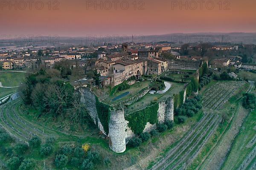
[[[212,110],[220,110],[228,99],[233,96],[244,82],[218,82],[205,91],[203,106]]]

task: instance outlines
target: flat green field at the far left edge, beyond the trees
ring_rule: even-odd
[[[19,86],[25,79],[26,73],[0,72],[0,82],[3,86]]]

